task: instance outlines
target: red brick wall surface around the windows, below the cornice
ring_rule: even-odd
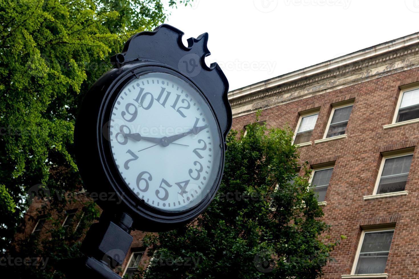
[[[262,112],[260,120],[271,127],[290,125],[295,131],[299,112],[320,107],[311,146],[300,147],[301,162],[310,164],[336,160],[323,207],[324,220],[332,225],[331,236],[347,239],[336,247],[336,262],[327,264],[324,278],[340,278],[350,274],[361,235],[362,225],[396,223],[388,257],[388,278],[419,278],[419,159],[418,148],[406,184],[409,194],[375,200],[372,195],[382,156],[380,152],[416,146],[419,123],[383,129],[391,124],[399,97],[399,86],[419,81],[419,69],[393,74],[372,81],[298,100]],[[314,144],[323,138],[331,113],[331,104],[354,99],[347,126],[347,138]],[[234,129],[255,120],[255,115],[233,119]]]

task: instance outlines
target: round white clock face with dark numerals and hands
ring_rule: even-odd
[[[220,169],[220,133],[202,95],[172,74],[132,79],[112,108],[109,138],[127,187],[148,205],[181,211],[208,194]]]

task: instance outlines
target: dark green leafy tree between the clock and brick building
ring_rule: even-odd
[[[256,120],[257,122],[257,120]],[[153,261],[145,278],[317,278],[339,243],[329,226],[310,171],[295,177],[292,131],[248,125],[228,136],[217,196],[196,222],[148,235]],[[276,189],[277,188],[277,189]],[[276,189],[276,190],[275,190]],[[294,277],[295,276],[295,277]]]

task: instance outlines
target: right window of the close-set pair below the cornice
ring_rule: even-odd
[[[341,105],[332,108],[331,118],[323,138],[332,138],[346,134],[346,127],[354,105]]]

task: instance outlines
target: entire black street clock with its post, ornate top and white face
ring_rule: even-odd
[[[80,274],[121,278],[112,269],[127,256],[132,230],[159,232],[189,223],[218,190],[232,122],[228,81],[216,63],[205,64],[210,54],[208,34],[189,38],[188,46],[182,43],[183,34],[163,24],[132,36],[123,52],[111,57],[114,68],[93,84],[83,100],[74,134],[83,184],[91,193],[114,198],[97,200],[102,215],[83,241],[85,256],[63,262],[67,278]],[[159,87],[152,87],[155,82]],[[132,123],[159,118],[159,112],[167,113],[165,119],[172,123],[186,121],[191,128],[158,137],[129,129]],[[115,117],[122,121],[117,133],[112,130]],[[135,152],[126,147],[143,142],[153,145]],[[190,158],[182,163],[185,171],[179,169],[179,156],[170,155],[175,148],[185,148],[184,162]],[[146,149],[161,155],[144,157]],[[164,167],[147,169],[147,158]],[[173,173],[178,177],[169,176]]]

